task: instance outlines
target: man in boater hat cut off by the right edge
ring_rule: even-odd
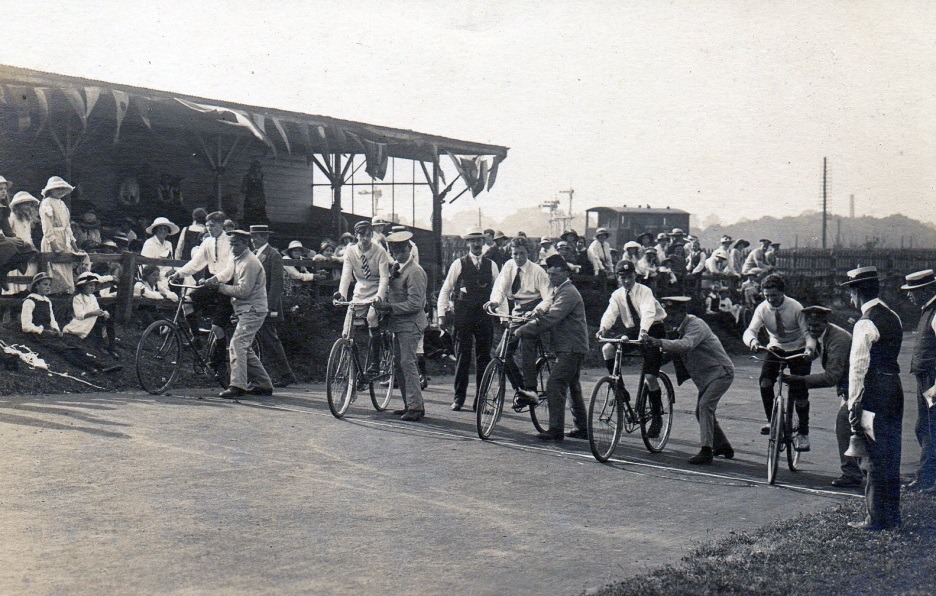
[[[908,491],[928,490],[936,486],[936,277],[932,269],[906,277],[901,286],[920,308],[916,344],[910,360],[910,373],[917,382],[916,437],[920,444],[920,467],[915,477],[904,485]],[[930,397],[927,397],[930,395]]]

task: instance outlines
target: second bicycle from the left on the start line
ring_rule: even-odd
[[[368,350],[364,365],[361,365],[357,342],[354,339],[354,323],[357,318],[354,315],[355,307],[367,307],[373,303],[373,300],[332,301],[334,306],[348,307],[341,337],[335,340],[332,346],[325,373],[328,409],[335,418],[344,417],[348,408],[357,399],[358,391],[363,391],[365,386],[370,392],[371,403],[378,412],[386,410],[393,397],[393,385],[396,380],[396,371],[393,366],[393,334],[383,330],[379,334],[380,355],[376,374],[367,372],[370,364],[368,361],[370,350]]]

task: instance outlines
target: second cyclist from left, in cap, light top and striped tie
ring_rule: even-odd
[[[345,250],[344,265],[341,267],[341,281],[338,282],[338,291],[335,300],[347,302],[348,290],[354,280],[354,302],[365,302],[371,299],[384,300],[387,297],[387,283],[390,280],[390,257],[382,246],[374,243],[374,229],[371,222],[362,220],[354,224],[354,236],[357,244],[351,244]],[[368,343],[369,362],[368,374],[375,374],[380,366],[379,317],[377,311],[371,306],[355,306],[354,319],[367,319],[370,335]]]

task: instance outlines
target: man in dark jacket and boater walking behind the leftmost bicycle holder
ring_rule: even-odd
[[[260,352],[264,360],[272,364],[273,368],[280,373],[279,380],[273,386],[286,387],[296,382],[296,375],[289,366],[286,351],[283,350],[283,344],[276,333],[276,324],[283,317],[283,257],[280,256],[278,250],[270,246],[268,242],[270,233],[269,226],[250,226],[254,254],[257,255],[266,273],[267,304],[270,309],[263,326],[257,332],[257,342],[260,344]]]

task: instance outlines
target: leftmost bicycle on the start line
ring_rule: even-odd
[[[208,342],[203,349],[195,344],[195,332],[183,316],[186,297],[200,286],[169,284],[171,288],[181,290],[172,319],[158,319],[149,324],[136,350],[136,373],[140,386],[152,394],[165,393],[179,375],[182,368],[182,348],[192,353],[192,370],[196,375],[212,376],[222,388],[228,385],[229,369],[225,359],[222,364],[212,366],[212,355],[217,347],[218,337],[213,331],[207,331]],[[260,355],[259,346],[254,340],[253,348]],[[203,353],[204,352],[204,353]]]

